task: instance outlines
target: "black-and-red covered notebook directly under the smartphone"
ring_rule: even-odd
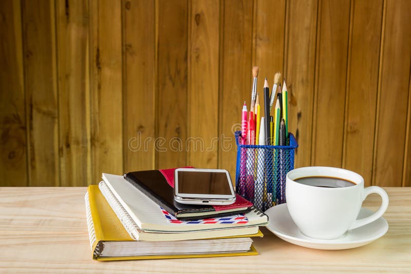
[[[231,216],[246,213],[253,209],[253,204],[238,194],[235,203],[231,205],[180,204],[174,201],[174,170],[175,168],[134,171],[125,173],[124,178],[180,220]]]

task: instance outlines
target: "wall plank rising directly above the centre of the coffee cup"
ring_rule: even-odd
[[[341,167],[350,1],[320,1],[311,164]]]

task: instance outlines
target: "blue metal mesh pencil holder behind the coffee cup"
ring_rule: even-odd
[[[235,132],[237,143],[236,192],[260,210],[286,202],[286,174],[294,168],[294,135],[288,146],[241,145],[241,131]]]

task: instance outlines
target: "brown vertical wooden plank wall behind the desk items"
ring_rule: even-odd
[[[251,67],[289,88],[296,167],[411,186],[408,0],[4,0],[0,186],[235,174]]]

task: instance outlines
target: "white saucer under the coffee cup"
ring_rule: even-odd
[[[287,204],[273,206],[265,212],[269,217],[268,230],[277,237],[295,245],[316,249],[348,249],[369,244],[382,237],[388,230],[388,223],[384,218],[379,218],[372,223],[349,230],[342,237],[333,240],[316,240],[305,236],[297,228]],[[365,218],[373,212],[367,208],[361,208],[358,218]]]

